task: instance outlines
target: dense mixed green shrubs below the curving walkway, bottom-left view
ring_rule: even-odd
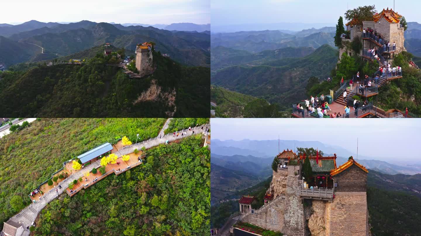
[[[202,146],[194,136],[147,150],[146,164],[51,202],[35,235],[205,235],[210,151]]]

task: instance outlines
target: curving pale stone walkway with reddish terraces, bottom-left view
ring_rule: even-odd
[[[163,129],[160,131],[160,134],[162,135],[162,132],[165,130],[165,128],[168,127],[168,123],[169,123],[168,119],[164,126]],[[38,213],[49,203],[51,202],[53,199],[59,197],[60,194],[62,194],[64,191],[67,192],[67,194],[69,194],[70,196],[75,195],[75,193],[77,193],[78,191],[80,191],[82,188],[86,189],[87,187],[96,184],[96,182],[98,182],[99,180],[101,180],[102,178],[105,178],[106,176],[108,176],[111,173],[115,173],[116,175],[125,172],[126,170],[129,170],[137,165],[141,165],[141,161],[139,161],[137,158],[139,157],[139,155],[143,154],[143,152],[141,151],[142,147],[145,148],[151,148],[151,147],[155,147],[159,144],[163,144],[163,143],[167,143],[167,142],[172,142],[172,141],[176,141],[177,139],[182,139],[184,137],[187,136],[191,136],[193,134],[203,134],[203,135],[207,135],[207,133],[205,133],[205,129],[206,128],[210,128],[210,124],[205,124],[202,126],[198,126],[198,127],[194,127],[192,128],[192,130],[182,130],[182,131],[177,131],[177,133],[179,134],[179,136],[173,136],[173,134],[167,134],[165,136],[160,136],[158,135],[156,138],[153,139],[149,139],[146,140],[144,142],[140,142],[138,144],[132,144],[130,146],[127,147],[122,147],[121,144],[115,144],[115,149],[112,150],[112,153],[115,153],[119,158],[117,159],[117,162],[120,162],[120,165],[117,164],[109,164],[106,167],[106,173],[104,175],[101,175],[101,173],[99,171],[97,171],[96,174],[92,174],[91,170],[94,167],[99,167],[100,166],[100,162],[101,160],[97,160],[94,163],[91,163],[91,165],[86,166],[83,169],[80,170],[72,170],[72,168],[69,168],[69,163],[67,163],[66,167],[67,170],[69,170],[69,172],[71,173],[69,177],[67,177],[66,179],[62,180],[60,182],[61,185],[61,189],[56,186],[56,187],[52,187],[49,191],[46,191],[42,197],[39,199],[35,200],[36,202],[33,202],[31,205],[29,205],[28,207],[26,207],[24,210],[21,210],[21,212],[19,212],[17,215],[14,215],[13,217],[11,217],[9,220],[12,220],[14,222],[19,222],[22,224],[23,228],[24,228],[24,232],[21,234],[21,236],[29,236],[29,231],[27,230],[28,226],[31,226],[32,223],[35,221],[35,219],[37,218]],[[193,133],[194,131],[194,133]],[[185,135],[181,136],[181,132],[185,133]],[[120,149],[118,149],[117,147],[120,147]],[[138,154],[134,154],[133,150],[134,149],[138,149],[139,152]],[[130,160],[128,160],[127,162],[121,160],[121,156],[122,155],[130,155]],[[70,164],[71,165],[71,164]],[[85,173],[86,172],[90,172],[90,175],[88,177],[85,177]],[[77,182],[77,185],[75,185],[75,187],[73,187],[73,189],[75,189],[75,193],[72,192],[72,194],[70,194],[69,192],[69,184],[72,184],[74,180],[78,180],[79,178],[82,178],[82,183],[80,183],[79,181]],[[94,178],[98,178],[97,181],[93,181]],[[86,181],[85,179],[88,179],[88,181]],[[3,232],[1,232],[1,235],[3,235]]]

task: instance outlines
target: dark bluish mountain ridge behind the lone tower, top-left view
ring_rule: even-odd
[[[6,27],[6,26],[5,26]],[[0,53],[3,59],[0,62],[6,66],[14,63],[34,60],[37,54],[43,58],[38,60],[52,59],[69,55],[98,45],[110,43],[116,47],[123,47],[128,51],[135,51],[136,45],[142,42],[155,42],[155,49],[171,56],[179,63],[191,66],[210,66],[210,35],[198,32],[168,31],[156,29],[152,26],[128,26],[118,29],[108,23],[95,23],[80,21],[72,24],[44,27],[11,35],[9,38],[16,45],[2,44]],[[40,47],[37,47],[35,44]],[[38,51],[30,51],[27,47],[38,48]],[[27,55],[19,60],[13,58],[11,51],[16,54]],[[35,58],[36,59],[36,58]]]

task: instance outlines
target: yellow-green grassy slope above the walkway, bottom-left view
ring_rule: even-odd
[[[9,201],[13,196],[31,203],[28,194],[63,162],[76,157],[115,136],[136,140],[154,138],[165,123],[163,118],[48,119],[31,123],[19,133],[0,139],[0,228],[17,210]],[[133,139],[134,138],[134,139]]]

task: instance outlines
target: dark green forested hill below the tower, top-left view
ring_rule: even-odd
[[[3,115],[208,116],[209,68],[184,67],[154,52],[154,63],[158,66],[155,73],[129,79],[120,68],[106,66],[106,63],[107,58],[99,55],[83,66],[38,66],[25,72],[1,73]],[[157,90],[160,92],[156,97],[141,96]]]

